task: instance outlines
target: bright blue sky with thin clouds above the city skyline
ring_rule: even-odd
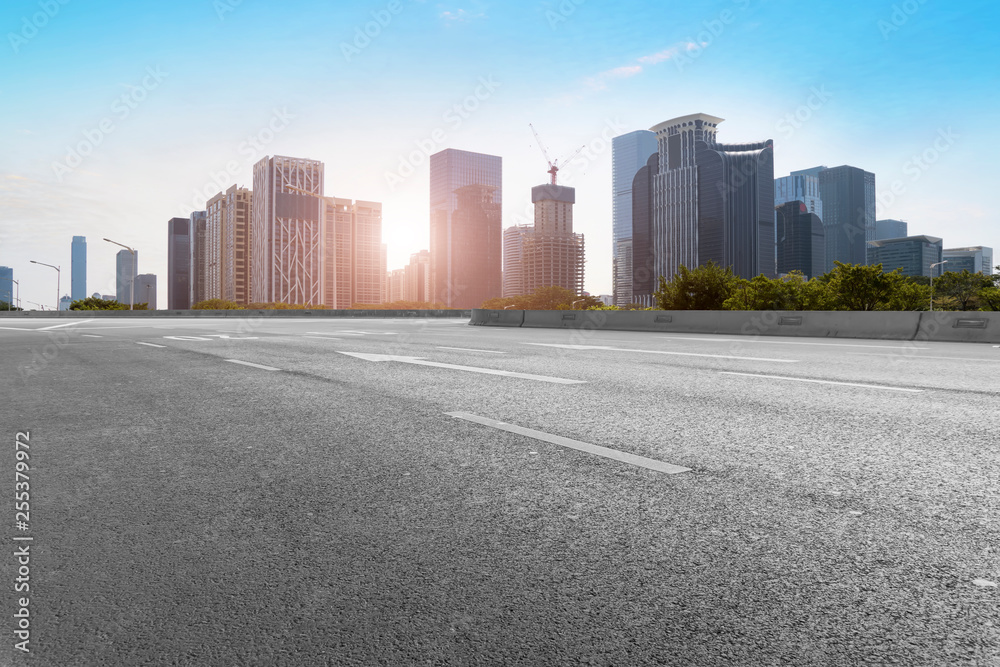
[[[726,119],[720,141],[774,139],[777,176],[862,167],[879,218],[1000,249],[998,19],[971,0],[8,0],[0,265],[51,304],[54,272],[28,260],[61,265],[68,292],[82,235],[88,293],[113,293],[109,237],[139,250],[162,307],[167,220],[279,154],[323,160],[327,194],[382,202],[399,268],[428,245],[428,152],[502,156],[504,226],[530,219],[548,168],[530,122],[553,158],[587,146],[561,182],[586,287],[609,293],[608,139],[695,112]]]

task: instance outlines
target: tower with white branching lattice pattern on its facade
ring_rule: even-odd
[[[250,300],[324,303],[323,163],[265,157],[253,167]]]

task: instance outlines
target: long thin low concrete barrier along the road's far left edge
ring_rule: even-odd
[[[468,319],[471,310],[11,310],[0,311],[0,319],[22,317],[449,317]]]

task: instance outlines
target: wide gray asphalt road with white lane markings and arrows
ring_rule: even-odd
[[[998,368],[956,343],[0,320],[8,553],[30,546],[27,593],[0,559],[0,665],[995,667]]]

